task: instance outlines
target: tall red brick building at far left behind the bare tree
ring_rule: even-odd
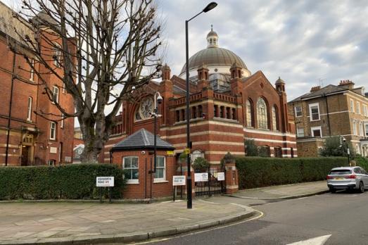
[[[0,165],[71,163],[74,118],[61,120],[61,112],[44,93],[36,71],[44,74],[53,97],[68,113],[74,112],[72,96],[65,92],[55,75],[46,75],[44,66],[36,59],[32,59],[34,70],[23,56],[15,54],[14,49],[22,49],[28,57],[34,57],[15,30],[27,34],[34,42],[35,33],[13,18],[11,8],[1,2],[0,13]],[[45,27],[42,31],[49,32]],[[52,49],[46,40],[40,38],[37,42],[43,47],[44,55],[51,56]],[[61,44],[61,40],[55,42]],[[62,74],[55,61],[49,62]],[[46,113],[51,121],[34,111]]]

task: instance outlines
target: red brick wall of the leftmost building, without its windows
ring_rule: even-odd
[[[52,37],[55,39],[55,37]],[[57,40],[56,40],[57,41]],[[42,41],[42,46],[47,46],[46,42]],[[49,52],[49,51],[46,51]],[[30,54],[32,57],[32,54]],[[49,58],[47,58],[49,59]],[[50,61],[52,63],[52,61]],[[40,73],[46,73],[44,67],[36,65],[36,70]],[[2,88],[0,96],[0,165],[5,164],[5,149],[6,149],[6,128],[8,127],[8,113],[9,104],[11,101],[11,76],[13,68],[13,52],[8,49],[6,38],[0,37],[0,87]],[[23,137],[25,127],[31,131],[36,130],[38,133],[34,134],[34,141],[27,145],[29,151],[32,151],[30,158],[39,157],[46,162],[49,159],[55,159],[56,163],[65,163],[65,156],[72,160],[73,148],[73,132],[74,132],[74,118],[67,118],[64,120],[64,127],[61,128],[61,122],[57,122],[56,140],[50,139],[50,121],[42,118],[39,115],[32,113],[31,120],[27,121],[27,107],[28,97],[32,97],[32,111],[44,113],[52,113],[61,115],[55,105],[49,101],[46,94],[44,94],[44,87],[37,86],[39,79],[34,74],[34,81],[30,81],[30,65],[27,64],[23,56],[16,56],[14,65],[14,74],[16,78],[13,82],[13,101],[11,106],[11,134],[10,134],[10,151],[8,158],[8,165],[19,165],[20,157],[22,156]],[[62,75],[63,71],[59,68],[58,73]],[[54,84],[59,87],[59,103],[68,113],[74,113],[74,105],[72,96],[63,93],[63,83],[55,75],[42,76],[50,87]],[[60,120],[59,116],[47,115],[51,120]],[[62,153],[61,153],[62,144]],[[56,153],[51,153],[51,147],[56,148]],[[32,160],[32,159],[31,159]]]

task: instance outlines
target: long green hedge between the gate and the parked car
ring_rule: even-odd
[[[331,168],[348,165],[347,158],[236,158],[239,189],[325,180]]]

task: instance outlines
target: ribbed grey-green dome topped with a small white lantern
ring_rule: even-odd
[[[239,56],[228,49],[222,49],[217,45],[217,33],[211,30],[207,34],[208,46],[207,49],[202,49],[189,58],[189,70],[196,70],[201,65],[207,66],[229,66],[234,63],[239,64],[240,68],[247,69],[246,64]],[[180,74],[185,73],[186,65],[184,64]]]

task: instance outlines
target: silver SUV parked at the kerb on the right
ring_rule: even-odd
[[[368,188],[368,173],[358,166],[333,168],[327,175],[327,186],[332,193],[339,189],[356,189],[363,193]]]

